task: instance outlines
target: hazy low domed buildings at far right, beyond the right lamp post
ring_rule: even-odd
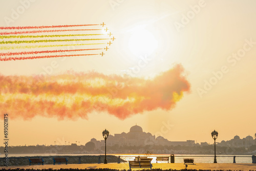
[[[239,136],[234,136],[233,139],[228,140],[228,141],[221,141],[218,143],[220,146],[233,146],[233,147],[249,147],[251,145],[256,145],[256,140],[253,139],[252,136],[247,136],[243,139],[240,139]]]

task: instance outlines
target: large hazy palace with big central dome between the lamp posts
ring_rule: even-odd
[[[97,141],[95,138],[91,139],[91,142],[94,142],[95,147],[100,149],[101,146],[104,146],[104,140]],[[159,136],[155,137],[151,133],[145,133],[142,130],[142,127],[137,124],[132,126],[129,133],[121,133],[109,135],[109,138],[106,140],[106,145],[113,146],[145,146],[145,145],[185,145],[192,146],[195,145],[194,140],[187,141],[168,141],[167,139]]]

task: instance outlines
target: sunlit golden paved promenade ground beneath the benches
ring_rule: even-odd
[[[33,169],[43,169],[43,168],[113,168],[113,169],[129,169],[128,163],[108,163],[108,164],[47,164],[47,165],[26,165],[26,166],[8,166],[1,168],[33,168]],[[153,163],[152,168],[161,169],[184,169],[185,165],[183,163]],[[250,163],[196,163],[188,164],[187,169],[211,169],[211,170],[256,170],[256,164]],[[132,169],[138,170],[138,169]]]

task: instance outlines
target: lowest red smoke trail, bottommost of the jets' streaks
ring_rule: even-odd
[[[6,58],[0,58],[0,61],[40,59],[40,58],[52,58],[52,57],[68,57],[68,56],[87,56],[87,55],[99,55],[99,54],[49,55],[49,56],[30,56],[30,57],[6,57]]]

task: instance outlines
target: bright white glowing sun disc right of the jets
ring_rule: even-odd
[[[134,30],[129,39],[129,50],[136,56],[151,55],[158,46],[154,34],[146,29]]]

